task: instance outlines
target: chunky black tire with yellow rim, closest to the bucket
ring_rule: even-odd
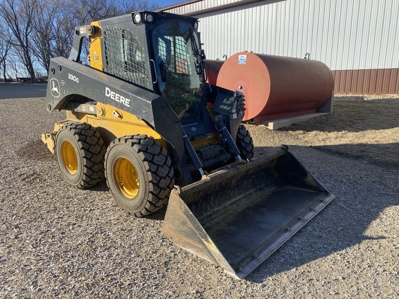
[[[105,154],[105,177],[118,205],[136,217],[165,206],[175,183],[166,150],[147,135],[112,141]]]

